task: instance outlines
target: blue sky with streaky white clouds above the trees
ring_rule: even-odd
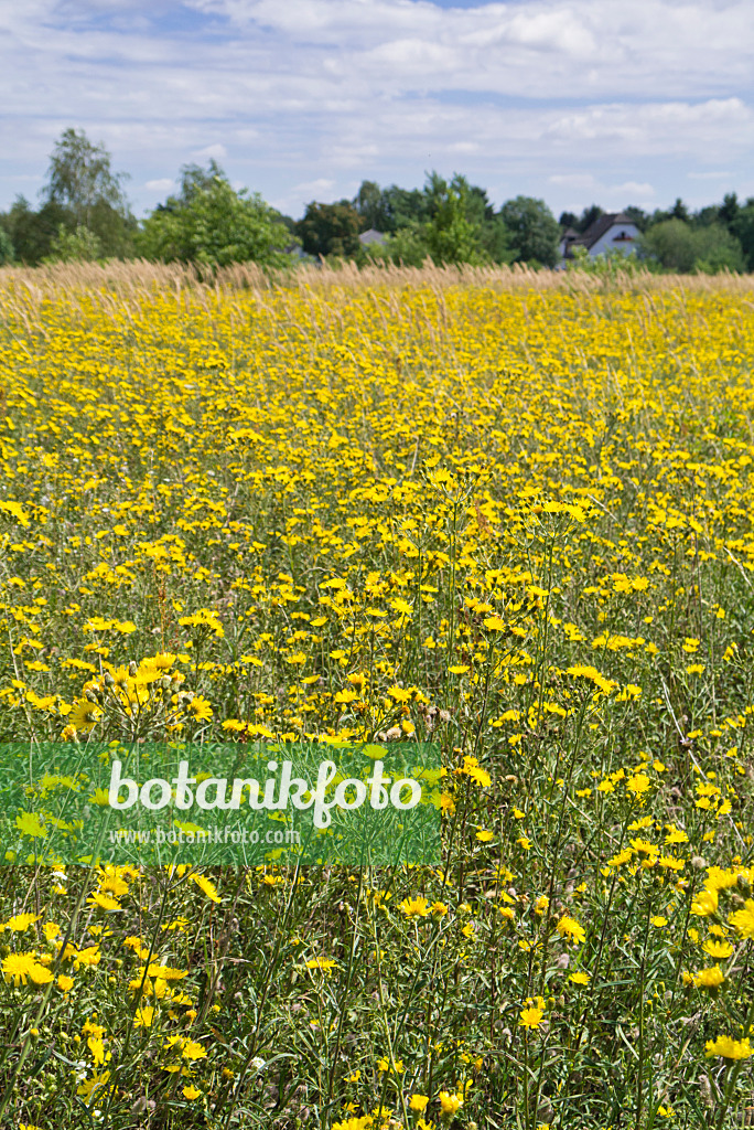
[[[0,208],[64,129],[138,216],[214,157],[298,218],[362,180],[499,207],[754,195],[752,0],[0,0]]]

